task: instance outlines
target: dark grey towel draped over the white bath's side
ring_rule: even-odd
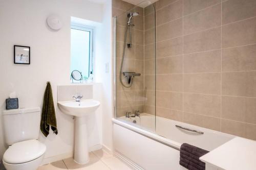
[[[205,170],[205,163],[199,158],[209,151],[183,143],[180,147],[180,165],[189,170]]]

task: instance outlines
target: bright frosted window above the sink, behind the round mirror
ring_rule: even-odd
[[[93,29],[71,26],[71,67],[82,74],[83,80],[93,73]]]

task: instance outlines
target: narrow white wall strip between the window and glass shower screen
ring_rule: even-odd
[[[95,49],[96,81],[102,82],[102,144],[112,151],[112,117],[113,117],[113,58],[112,58],[112,1],[103,6],[102,25],[96,30],[98,45]]]

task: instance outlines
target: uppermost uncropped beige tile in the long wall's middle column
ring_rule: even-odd
[[[185,35],[221,26],[221,4],[187,15],[183,23]]]

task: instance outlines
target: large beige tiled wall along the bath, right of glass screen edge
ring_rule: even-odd
[[[157,115],[256,140],[256,1],[156,8]]]

